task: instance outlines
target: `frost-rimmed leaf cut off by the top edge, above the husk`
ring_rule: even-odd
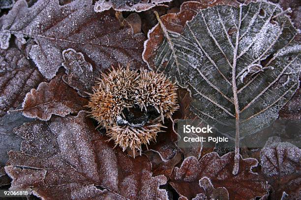
[[[94,11],[103,12],[113,8],[117,11],[142,12],[170,1],[172,0],[98,0],[95,2]]]

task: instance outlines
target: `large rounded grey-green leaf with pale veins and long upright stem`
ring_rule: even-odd
[[[191,91],[195,115],[236,137],[238,161],[239,138],[273,122],[299,87],[301,44],[292,42],[297,30],[279,6],[266,1],[201,9],[180,30],[160,26],[164,37],[158,30],[149,33],[144,59]],[[254,64],[264,70],[241,82]]]

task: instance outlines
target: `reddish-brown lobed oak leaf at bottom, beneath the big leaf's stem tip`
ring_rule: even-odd
[[[258,164],[256,159],[240,158],[240,171],[237,175],[232,174],[233,164],[234,153],[219,157],[216,152],[211,152],[200,160],[188,157],[183,161],[181,168],[174,169],[170,184],[181,196],[188,199],[198,194],[211,196],[213,194],[210,194],[210,191],[214,193],[219,191],[220,195],[225,196],[226,191],[222,188],[226,188],[230,200],[253,200],[268,195],[265,179],[251,172]],[[211,181],[213,188],[210,188],[204,178]],[[200,180],[203,187],[199,185]]]

